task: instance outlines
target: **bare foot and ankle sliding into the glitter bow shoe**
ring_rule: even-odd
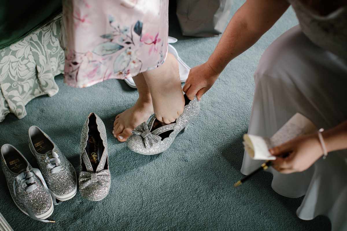
[[[168,53],[161,66],[143,75],[151,92],[155,117],[166,124],[174,122],[185,103],[176,58]]]

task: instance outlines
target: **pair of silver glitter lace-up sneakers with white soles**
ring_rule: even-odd
[[[53,213],[53,205],[76,195],[76,172],[56,144],[37,126],[29,128],[29,148],[40,169],[33,168],[14,146],[4,144],[2,170],[19,210],[34,220],[53,222],[44,220]]]

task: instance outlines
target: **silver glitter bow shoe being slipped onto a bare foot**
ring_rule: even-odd
[[[127,146],[130,150],[144,154],[154,155],[167,150],[174,142],[177,134],[185,128],[200,111],[200,103],[196,96],[190,101],[186,95],[186,106],[183,113],[176,119],[176,122],[162,126],[153,116],[147,125],[146,122],[135,127],[127,139]]]

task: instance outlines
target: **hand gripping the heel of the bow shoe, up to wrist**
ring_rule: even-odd
[[[183,91],[188,99],[193,100],[196,95],[198,100],[208,91],[217,80],[219,73],[215,72],[209,62],[195,66],[189,71]]]

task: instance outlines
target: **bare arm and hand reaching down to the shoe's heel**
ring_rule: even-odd
[[[288,7],[286,0],[247,0],[231,18],[209,60],[189,72],[183,87],[188,98],[201,99],[227,64],[256,43]]]

